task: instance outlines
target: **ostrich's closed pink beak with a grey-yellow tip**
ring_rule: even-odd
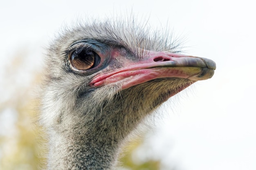
[[[119,53],[113,53],[112,56],[120,58]],[[215,62],[207,58],[169,52],[149,51],[140,61],[132,61],[126,57],[121,60],[122,68],[97,75],[90,82],[90,86],[99,87],[121,83],[121,88],[124,90],[152,79],[165,77],[189,79],[192,84],[198,80],[211,78],[216,69]]]

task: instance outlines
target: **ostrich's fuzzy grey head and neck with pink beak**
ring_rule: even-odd
[[[114,170],[120,146],[167,99],[209,79],[212,60],[179,53],[134,20],[66,29],[49,46],[40,122],[48,170]]]

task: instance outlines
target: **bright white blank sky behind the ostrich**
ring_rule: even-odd
[[[138,155],[162,157],[163,164],[182,170],[256,170],[256,4],[252,0],[5,0],[0,4],[0,85],[7,81],[2,76],[4,66],[25,48],[29,56],[13,84],[26,86],[29,75],[40,72],[43,47],[65,22],[131,9],[139,17],[149,17],[152,25],[168,21],[175,34],[186,37],[186,54],[217,64],[211,79],[165,104],[168,116],[144,144],[151,149],[142,147]],[[15,88],[1,87],[0,94],[6,99]],[[1,116],[1,126],[8,126],[9,119]]]

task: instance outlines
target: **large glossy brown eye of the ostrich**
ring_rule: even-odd
[[[101,58],[91,49],[76,49],[70,55],[70,63],[77,70],[88,70],[99,65]]]

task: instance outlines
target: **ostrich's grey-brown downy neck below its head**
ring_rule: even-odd
[[[121,121],[129,115],[123,111],[63,114],[49,129],[48,170],[116,169],[120,146],[138,122]]]

